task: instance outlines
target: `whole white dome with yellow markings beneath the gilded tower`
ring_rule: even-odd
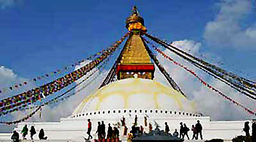
[[[168,109],[195,113],[195,107],[173,88],[150,79],[129,78],[86,97],[73,114],[113,109]]]

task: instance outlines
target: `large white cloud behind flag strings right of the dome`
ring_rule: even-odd
[[[189,53],[195,55],[199,54],[201,44],[191,40],[181,40],[173,42],[173,45],[179,47],[179,49],[182,49],[183,51],[188,51]],[[202,70],[199,70],[190,63],[184,61],[184,59],[180,59],[177,57],[177,55],[173,54],[167,49],[164,50],[164,53],[173,58],[175,61],[178,61],[179,63],[182,63],[182,65],[185,65],[189,69],[195,71],[196,74],[202,77],[207,83],[225,93],[228,97],[236,100],[237,102],[241,102],[241,104],[250,108],[252,111],[256,110],[254,100],[249,99],[241,93],[237,93],[226,84],[209,77],[209,75],[206,75]],[[218,57],[209,53],[204,54],[208,54],[209,58],[211,58],[211,56]],[[244,120],[252,117],[252,115],[241,109],[241,107],[225,100],[225,98],[220,97],[218,93],[203,86],[202,83],[200,83],[186,70],[174,65],[171,61],[166,60],[161,55],[158,55],[157,58],[159,58],[160,63],[162,63],[167,72],[170,73],[175,82],[179,84],[180,88],[186,93],[186,95],[188,95],[188,99],[195,102],[197,111],[200,111],[206,116],[211,116],[211,120]],[[159,77],[156,78],[156,81],[168,84],[159,70],[156,70],[155,74],[156,77]],[[218,112],[216,112],[216,110],[218,110]]]

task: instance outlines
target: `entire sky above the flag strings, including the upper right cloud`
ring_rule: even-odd
[[[221,61],[221,67],[240,70],[240,75],[256,81],[254,1],[0,0],[0,87],[63,68],[108,47],[127,32],[125,19],[133,5],[148,33],[169,41],[198,42],[198,54],[211,55],[206,60]],[[4,78],[8,73],[16,78]]]

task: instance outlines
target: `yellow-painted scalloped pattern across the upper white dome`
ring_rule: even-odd
[[[188,103],[189,106],[193,106],[187,99],[184,97],[181,93],[179,93],[176,90],[173,90],[173,88],[170,88],[168,86],[164,86],[161,83],[158,83],[156,81],[152,81],[150,79],[123,79],[120,81],[116,81],[114,83],[108,84],[107,86],[104,86],[100,90],[98,90],[93,95],[90,95],[86,97],[83,102],[77,107],[76,111],[74,113],[81,113],[86,109],[86,107],[92,109],[92,111],[98,111],[100,107],[104,104],[103,102],[108,99],[108,97],[111,97],[112,95],[118,95],[121,96],[122,99],[124,99],[124,104],[122,104],[119,107],[123,107],[123,109],[127,109],[129,107],[129,98],[134,96],[135,100],[136,95],[153,95],[153,102],[154,108],[152,109],[160,109],[161,106],[159,106],[159,95],[167,95],[170,97],[173,101],[177,103],[177,107],[179,109],[184,109],[183,103]],[[97,99],[97,102],[94,100]],[[140,100],[141,98],[138,98]],[[148,98],[150,99],[150,98]],[[92,106],[90,102],[94,103]],[[108,100],[109,101],[109,100]],[[112,101],[112,100],[110,100]],[[116,100],[113,100],[115,102]],[[152,100],[150,100],[152,101]],[[185,101],[185,102],[184,102]],[[96,103],[96,104],[95,104]],[[112,103],[112,102],[109,102]],[[167,102],[168,103],[168,102]],[[88,106],[90,105],[90,106]],[[191,107],[193,110],[195,106]],[[122,109],[122,108],[118,108]]]

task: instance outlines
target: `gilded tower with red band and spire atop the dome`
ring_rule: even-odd
[[[141,39],[141,35],[147,32],[147,29],[136,6],[133,7],[132,14],[127,18],[125,27],[131,32],[131,36],[129,36],[129,40],[125,43],[122,59],[118,63],[118,79],[133,77],[153,79],[154,64],[150,61],[148,52]]]

